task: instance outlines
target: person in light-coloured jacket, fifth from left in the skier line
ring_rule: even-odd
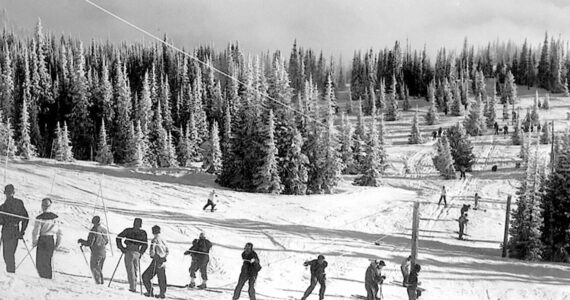
[[[166,293],[166,267],[164,263],[166,262],[166,257],[168,256],[168,246],[164,240],[160,237],[160,227],[158,225],[152,226],[152,234],[154,238],[150,242],[150,257],[152,262],[146,268],[142,275],[142,280],[144,287],[146,288],[147,297],[153,297],[164,299]],[[158,276],[158,286],[160,288],[160,294],[154,295],[152,290],[152,278],[154,275]]]

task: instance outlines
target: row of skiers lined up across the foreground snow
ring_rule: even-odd
[[[6,263],[6,271],[8,273],[15,273],[16,265],[14,255],[19,240],[22,240],[28,252],[28,256],[30,259],[32,258],[30,249],[24,240],[25,232],[29,223],[29,217],[22,200],[14,198],[15,189],[13,185],[6,185],[4,188],[4,194],[6,196],[6,201],[0,205],[0,225],[2,225],[1,241],[3,244],[3,256]],[[211,195],[210,198],[213,200],[215,196]],[[62,238],[62,231],[60,228],[58,216],[50,211],[52,204],[53,201],[50,198],[42,199],[42,213],[36,217],[34,222],[34,229],[32,231],[33,247],[37,248],[36,261],[34,264],[39,276],[46,279],[52,279],[53,253],[55,249],[59,247]],[[83,247],[90,248],[91,257],[89,261],[89,267],[91,269],[93,279],[96,284],[104,284],[102,269],[105,263],[106,246],[109,243],[109,234],[107,232],[107,229],[101,225],[101,218],[99,216],[94,216],[91,220],[91,223],[93,226],[89,231],[87,240],[78,239],[77,243],[80,245],[80,249],[83,255],[85,255],[83,252]],[[161,228],[158,225],[154,225],[152,227],[153,238],[150,241],[149,250],[152,261],[144,273],[142,273],[142,275],[140,260],[146,250],[149,248],[147,233],[142,229],[142,219],[135,218],[133,227],[126,228],[121,233],[119,233],[116,237],[116,244],[117,248],[121,251],[121,257],[119,258],[117,267],[115,267],[115,271],[113,272],[110,280],[113,280],[121,259],[124,257],[124,264],[129,283],[129,291],[137,292],[137,279],[141,278],[141,293],[142,284],[144,284],[144,287],[146,289],[146,293],[144,293],[145,296],[164,299],[167,288],[165,262],[167,261],[169,249],[166,241],[161,238],[160,233]],[[211,248],[212,243],[206,239],[205,234],[202,232],[197,239],[192,241],[192,246],[184,252],[184,255],[191,255],[192,257],[192,263],[189,268],[191,279],[190,283],[187,285],[188,288],[196,287],[195,278],[197,271],[200,272],[200,275],[202,277],[202,283],[197,286],[197,288],[207,288],[207,270],[210,260],[209,252]],[[243,261],[242,268],[237,285],[234,289],[232,299],[239,299],[241,291],[247,282],[249,284],[249,298],[250,300],[255,300],[255,282],[257,275],[262,267],[260,264],[259,256],[253,250],[252,243],[245,244],[241,257]],[[85,261],[87,261],[86,258]],[[366,270],[365,289],[368,294],[367,299],[382,299],[381,284],[383,283],[384,279],[386,279],[386,277],[382,275],[381,270],[385,265],[386,264],[383,261],[375,260]],[[309,287],[306,289],[301,299],[305,300],[307,297],[309,297],[309,295],[315,289],[317,283],[320,285],[319,299],[324,299],[326,291],[325,269],[328,266],[325,257],[323,255],[319,255],[317,259],[305,261],[304,266],[310,267],[311,280]],[[417,288],[417,272],[419,272],[419,265],[416,265],[415,267],[418,268],[417,271],[414,268],[412,272],[406,271],[406,273],[404,272],[404,268],[402,269],[402,273],[406,274],[404,275],[404,285],[408,287],[408,295],[411,295],[411,290],[415,292]],[[154,289],[151,283],[151,280],[155,276],[158,277],[158,294],[154,293]],[[110,284],[111,283],[109,282],[109,286]],[[380,293],[380,296],[378,296],[378,293]],[[410,296],[409,299],[416,298],[412,298]]]

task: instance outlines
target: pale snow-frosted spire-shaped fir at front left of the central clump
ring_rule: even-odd
[[[275,124],[273,119],[273,110],[269,110],[268,124],[265,130],[263,130],[263,163],[253,177],[253,184],[258,193],[280,194],[283,191],[283,185],[277,170],[277,148],[275,147]]]

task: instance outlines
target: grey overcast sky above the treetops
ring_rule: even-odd
[[[355,49],[457,47],[465,36],[476,44],[510,39],[533,44],[544,32],[567,39],[568,0],[92,0],[178,46],[223,48],[239,40],[249,51],[299,45],[342,54]],[[45,30],[113,41],[142,35],[83,0],[0,0],[9,26],[32,29],[38,17]]]

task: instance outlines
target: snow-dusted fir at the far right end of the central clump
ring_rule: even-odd
[[[378,143],[378,132],[376,117],[372,116],[370,130],[368,132],[368,143],[366,145],[366,162],[362,170],[362,176],[354,180],[354,184],[361,186],[380,186],[380,153]]]

